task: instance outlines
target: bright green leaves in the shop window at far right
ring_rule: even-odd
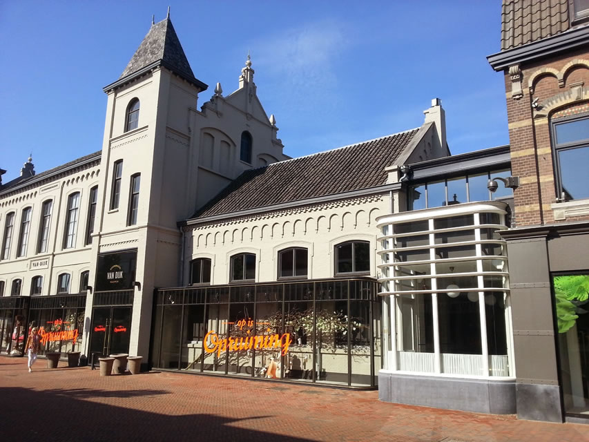
[[[579,314],[587,313],[580,306],[589,300],[589,275],[554,276],[554,297],[559,333],[566,333]]]

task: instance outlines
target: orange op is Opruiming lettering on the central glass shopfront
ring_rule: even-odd
[[[218,356],[221,356],[222,352],[239,352],[242,350],[251,349],[280,349],[282,356],[285,356],[289,352],[289,347],[292,343],[291,335],[284,333],[271,334],[271,329],[267,328],[268,334],[252,335],[251,327],[253,327],[253,320],[238,320],[237,323],[226,323],[235,324],[240,331],[243,331],[244,327],[247,327],[247,336],[235,336],[230,338],[220,338],[219,335],[211,330],[204,336],[204,351],[207,353],[217,352]],[[269,325],[269,323],[258,323],[263,325]]]

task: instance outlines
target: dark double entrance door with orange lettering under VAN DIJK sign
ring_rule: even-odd
[[[128,353],[131,307],[95,307],[93,310],[90,354]]]

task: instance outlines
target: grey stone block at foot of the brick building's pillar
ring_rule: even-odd
[[[518,419],[548,422],[563,421],[558,385],[518,383],[516,392]]]

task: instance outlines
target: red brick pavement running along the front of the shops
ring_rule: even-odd
[[[377,392],[0,357],[3,441],[589,441],[589,425],[379,402]],[[60,363],[64,365],[64,363]]]

